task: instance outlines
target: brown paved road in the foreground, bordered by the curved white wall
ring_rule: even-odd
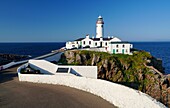
[[[16,67],[0,72],[0,108],[115,108],[70,87],[19,82]]]

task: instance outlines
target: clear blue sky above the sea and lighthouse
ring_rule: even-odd
[[[66,42],[104,35],[170,41],[170,0],[0,0],[0,42]]]

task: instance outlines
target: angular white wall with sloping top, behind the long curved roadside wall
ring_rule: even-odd
[[[29,65],[45,74],[56,74],[58,68],[69,68],[72,74],[77,73],[79,76],[97,79],[97,66],[63,66],[55,65],[46,60],[29,60]]]

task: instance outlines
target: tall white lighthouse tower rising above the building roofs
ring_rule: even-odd
[[[96,38],[103,37],[103,35],[104,35],[103,25],[104,25],[103,18],[102,18],[102,16],[99,16],[97,19],[97,22],[96,22]]]

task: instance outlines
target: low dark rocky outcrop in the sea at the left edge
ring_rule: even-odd
[[[19,61],[27,58],[28,56],[24,55],[15,55],[15,54],[0,54],[0,66],[10,63],[12,61]]]

